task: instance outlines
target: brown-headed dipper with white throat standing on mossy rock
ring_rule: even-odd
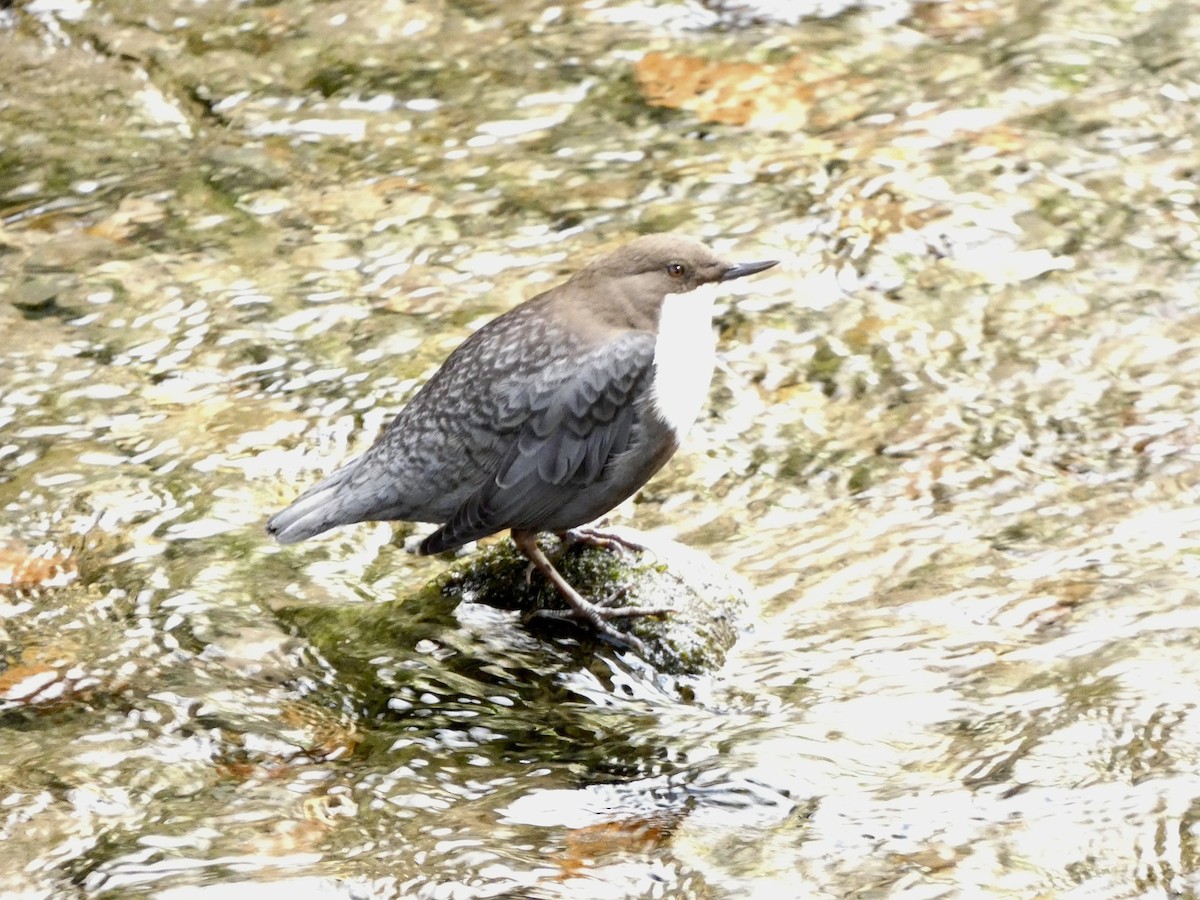
[[[713,293],[775,265],[727,263],[676,234],[637,238],[468,337],[356,460],[271,516],[281,544],[352,522],[440,527],[421,553],[510,529],[570,604],[564,616],[643,649],[607,623],[662,612],[584,600],[539,532],[604,546],[583,529],[658,472],[713,377]]]

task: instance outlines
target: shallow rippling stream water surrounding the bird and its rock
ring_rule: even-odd
[[[710,6],[0,11],[0,892],[1200,890],[1200,18]],[[661,229],[785,260],[613,516],[750,580],[719,673],[265,539]]]

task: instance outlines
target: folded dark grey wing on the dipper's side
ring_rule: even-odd
[[[496,425],[516,428],[511,444],[494,474],[425,539],[421,552],[505,528],[536,529],[581,488],[601,481],[613,457],[629,449],[635,400],[653,365],[654,336],[636,331],[505,385]]]

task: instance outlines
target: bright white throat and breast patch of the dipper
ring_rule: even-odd
[[[696,421],[713,380],[716,335],[713,301],[719,284],[667,294],[654,344],[654,409],[679,440]]]

